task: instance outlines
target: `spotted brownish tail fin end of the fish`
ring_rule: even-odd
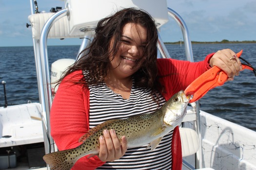
[[[43,156],[43,160],[49,165],[50,170],[70,170],[79,159],[72,152],[73,149],[48,153]]]

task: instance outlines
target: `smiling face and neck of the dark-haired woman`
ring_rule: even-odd
[[[110,69],[104,82],[124,99],[132,89],[132,75],[138,71],[136,64],[144,61],[147,30],[139,24],[127,23],[123,27],[120,48],[110,59]],[[112,39],[113,41],[113,39]]]

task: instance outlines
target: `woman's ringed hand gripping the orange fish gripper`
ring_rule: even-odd
[[[234,80],[235,76],[239,75],[242,70],[242,65],[236,53],[230,49],[217,51],[210,59],[211,67],[217,66],[228,75],[228,80]]]

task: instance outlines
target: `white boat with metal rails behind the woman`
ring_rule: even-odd
[[[56,73],[60,75],[74,60],[58,60],[52,66],[51,77],[47,38],[83,38],[81,51],[90,44],[99,19],[119,7],[138,7],[155,18],[158,28],[169,18],[174,19],[183,34],[187,60],[193,62],[186,24],[175,11],[167,7],[166,0],[65,0],[65,9],[59,9],[56,13],[34,14],[37,11],[35,2],[31,0],[32,15],[29,20],[40,102],[0,107],[0,151],[10,151],[0,153],[0,170],[46,170],[48,167],[44,163],[41,165],[42,155],[58,150],[49,135],[49,113],[53,100],[50,83]],[[170,58],[160,34],[158,50],[158,57]],[[201,111],[199,102],[188,107],[187,115],[180,125],[180,135],[184,170],[256,170],[256,132]],[[16,161],[16,156],[20,154],[17,148],[20,147],[27,147],[28,162]]]

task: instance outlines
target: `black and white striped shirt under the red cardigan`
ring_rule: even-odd
[[[86,77],[86,75],[85,75]],[[90,90],[90,129],[109,119],[125,119],[143,113],[152,113],[158,104],[150,97],[151,90],[132,86],[129,99],[123,99],[106,84],[89,85]],[[165,100],[161,97],[160,106]],[[147,145],[138,148],[128,148],[120,159],[106,162],[98,170],[170,170],[172,166],[173,131],[164,136],[158,147],[151,151]]]

